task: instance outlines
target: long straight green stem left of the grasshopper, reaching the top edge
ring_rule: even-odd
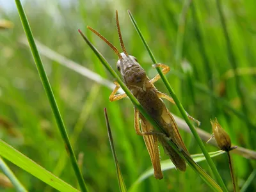
[[[35,60],[36,68],[38,70],[38,73],[40,75],[40,79],[41,79],[42,84],[44,86],[44,89],[45,89],[45,92],[46,92],[47,97],[49,99],[49,102],[51,104],[52,112],[54,113],[56,123],[57,123],[58,128],[61,132],[61,137],[62,137],[63,141],[65,142],[65,147],[66,147],[68,156],[70,157],[70,161],[72,163],[72,167],[74,169],[74,172],[76,173],[76,177],[77,177],[77,180],[79,182],[79,186],[81,188],[81,191],[87,191],[85,183],[84,183],[83,175],[79,170],[79,166],[77,165],[74,150],[73,150],[72,146],[70,145],[70,141],[68,139],[68,134],[67,134],[67,131],[65,129],[64,122],[61,118],[61,114],[60,114],[60,111],[58,109],[58,105],[57,105],[56,100],[54,98],[52,88],[51,88],[51,84],[49,83],[49,79],[47,78],[47,75],[46,75],[45,70],[44,70],[44,65],[42,63],[42,60],[41,60],[40,55],[38,53],[38,50],[36,49],[35,40],[33,38],[33,34],[32,34],[31,29],[30,29],[28,19],[26,17],[26,14],[24,12],[24,9],[23,9],[22,4],[20,3],[20,1],[15,0],[15,3],[16,3],[16,6],[17,6],[17,10],[19,12],[19,16],[20,16],[20,20],[22,22],[22,26],[23,26],[24,31],[26,33],[26,36],[28,38],[30,49],[31,49],[31,52],[33,54],[33,58]]]

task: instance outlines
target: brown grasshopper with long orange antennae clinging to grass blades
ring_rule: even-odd
[[[156,179],[163,179],[163,172],[161,170],[160,164],[160,154],[158,143],[159,141],[164,148],[164,152],[168,154],[173,164],[175,164],[176,168],[180,171],[184,172],[186,170],[186,163],[182,157],[173,150],[170,145],[166,142],[164,136],[167,136],[170,140],[177,145],[180,150],[184,150],[187,154],[189,154],[182,138],[179,134],[177,124],[172,116],[172,114],[166,108],[162,99],[167,99],[173,104],[175,104],[172,97],[169,97],[165,93],[159,92],[154,83],[160,79],[159,74],[157,74],[153,79],[149,79],[145,70],[140,66],[138,60],[127,53],[125,50],[124,42],[122,40],[122,35],[119,26],[118,20],[118,12],[116,11],[116,26],[118,30],[118,36],[120,40],[120,44],[123,52],[119,52],[116,47],[111,44],[104,36],[100,35],[99,32],[92,29],[90,26],[87,26],[93,33],[99,36],[106,44],[115,51],[118,56],[118,61],[116,63],[117,70],[120,72],[122,79],[126,86],[129,88],[131,93],[136,97],[136,99],[140,102],[141,106],[147,111],[147,113],[156,120],[156,122],[163,127],[165,134],[160,134],[160,132],[154,132],[154,127],[146,120],[146,118],[141,115],[138,109],[134,108],[134,128],[136,134],[143,136],[145,141],[145,145],[148,150],[148,154],[150,156],[153,168],[154,168],[154,177]],[[153,65],[153,67],[163,68],[163,74],[169,72],[170,67],[167,65],[163,65],[161,63]],[[125,93],[116,94],[120,85],[115,81],[116,87],[109,96],[110,101],[120,100],[127,95]],[[189,116],[189,115],[188,115]],[[193,117],[189,116],[192,120],[195,120]],[[198,124],[199,122],[195,120]],[[141,126],[140,126],[141,125]],[[140,129],[141,127],[141,129]]]

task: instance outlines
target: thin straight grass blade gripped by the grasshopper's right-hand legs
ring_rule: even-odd
[[[134,25],[134,28],[136,29],[136,31],[138,32],[138,34],[140,35],[140,38],[143,42],[143,44],[145,45],[147,51],[148,51],[148,54],[150,55],[150,58],[152,59],[153,63],[157,63],[156,61],[156,58],[154,58],[154,55],[152,54],[152,51],[150,50],[150,48],[148,47],[148,44],[145,40],[145,38],[143,37],[142,33],[140,32],[140,29],[138,28],[138,25],[136,23],[136,21],[134,20],[134,18],[132,17],[132,14],[131,12],[129,12],[129,16],[131,18],[131,21],[132,21],[132,24]],[[168,82],[168,80],[166,79],[166,77],[164,76],[163,72],[161,71],[161,69],[159,67],[156,68],[159,76],[161,77],[161,79],[163,80],[163,83],[164,85],[166,86],[166,88],[168,89],[168,92],[170,93],[170,95],[172,96],[173,100],[175,101],[175,104],[177,106],[177,108],[179,109],[180,113],[182,114],[184,120],[186,121],[186,123],[188,124],[189,126],[189,129],[191,130],[191,132],[193,133],[193,136],[195,137],[199,147],[201,148],[204,156],[205,156],[205,159],[207,160],[207,163],[209,164],[209,166],[211,167],[211,170],[212,170],[212,173],[214,173],[214,176],[216,177],[216,179],[218,180],[218,182],[220,183],[221,185],[221,188],[224,190],[224,191],[227,191],[227,188],[223,182],[223,180],[221,179],[221,176],[220,176],[220,173],[218,172],[215,164],[213,163],[211,157],[209,156],[205,146],[204,146],[204,143],[203,141],[200,139],[200,136],[198,135],[198,133],[196,132],[196,129],[195,127],[193,126],[193,124],[191,124],[187,114],[186,114],[186,111],[185,109],[183,108],[182,104],[180,103],[179,99],[177,98],[177,96],[175,95],[175,92],[173,91],[172,89],[172,86],[170,85],[170,83]]]

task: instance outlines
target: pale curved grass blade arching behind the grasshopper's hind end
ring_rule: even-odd
[[[220,156],[221,154],[224,154],[225,152],[223,150],[218,150],[216,152],[210,152],[209,155],[211,157],[216,157],[216,156]],[[195,154],[195,155],[191,155],[191,157],[193,158],[193,160],[198,163],[200,161],[205,161],[205,157],[204,154]],[[170,159],[166,159],[164,161],[161,161],[161,168],[162,171],[166,171],[166,170],[172,170],[173,168],[175,168],[175,165],[172,163],[172,161],[170,161]],[[149,168],[147,171],[145,171],[144,173],[142,173],[140,175],[140,177],[132,184],[131,188],[129,188],[128,191],[136,191],[136,188],[138,187],[138,185],[143,182],[143,180],[147,179],[148,177],[154,175],[154,169],[153,167]]]

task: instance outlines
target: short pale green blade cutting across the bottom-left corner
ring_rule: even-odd
[[[10,179],[15,189],[19,192],[27,191],[24,186],[20,183],[20,181],[17,179],[17,177],[14,175],[12,170],[8,167],[6,163],[4,163],[4,160],[0,157],[0,168],[3,171],[3,173]]]

